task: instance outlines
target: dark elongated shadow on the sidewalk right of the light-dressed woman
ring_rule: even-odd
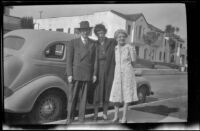
[[[157,105],[157,106],[135,107],[133,110],[168,116],[170,113],[178,112],[179,108],[171,108],[165,105]]]

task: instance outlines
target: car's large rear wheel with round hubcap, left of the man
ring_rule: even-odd
[[[66,109],[65,105],[61,95],[46,92],[37,100],[29,117],[30,122],[37,124],[58,120]]]

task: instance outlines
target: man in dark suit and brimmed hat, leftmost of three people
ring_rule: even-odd
[[[88,21],[82,21],[78,28],[81,37],[70,42],[67,54],[67,76],[69,82],[67,122],[72,115],[79,98],[79,121],[85,118],[87,90],[91,82],[97,79],[97,50],[95,41],[88,38],[92,27]]]

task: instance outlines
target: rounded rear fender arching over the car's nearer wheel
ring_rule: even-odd
[[[67,96],[68,88],[64,80],[53,75],[41,76],[5,98],[4,109],[15,113],[30,112],[40,94],[55,87],[61,89]]]

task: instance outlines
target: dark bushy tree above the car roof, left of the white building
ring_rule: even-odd
[[[21,18],[21,28],[22,29],[33,29],[33,17],[23,17]]]

